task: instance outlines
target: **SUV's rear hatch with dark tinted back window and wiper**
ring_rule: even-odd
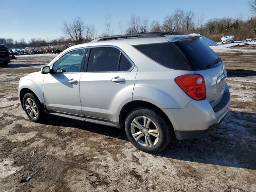
[[[226,69],[222,60],[198,36],[186,36],[175,41],[172,41],[173,38],[166,38],[190,68],[204,77],[206,99],[212,107],[216,106],[225,90]]]

